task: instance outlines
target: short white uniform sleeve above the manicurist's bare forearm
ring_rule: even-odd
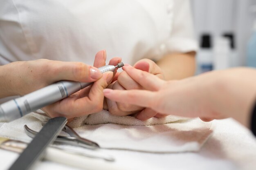
[[[171,36],[166,42],[167,49],[171,53],[197,51],[190,0],[173,2],[173,25]]]

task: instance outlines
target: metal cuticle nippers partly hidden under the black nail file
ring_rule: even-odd
[[[46,122],[43,121],[42,125],[44,126],[45,123]],[[24,126],[24,129],[29,137],[34,137],[37,134],[36,131],[30,129],[27,125]],[[58,137],[55,139],[55,142],[72,146],[80,146],[87,149],[100,148],[96,142],[80,137],[70,126],[65,125],[65,127],[62,130],[64,132],[67,132],[70,135],[70,137],[58,135]]]

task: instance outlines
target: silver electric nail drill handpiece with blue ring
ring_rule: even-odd
[[[122,66],[124,66],[124,64],[121,62],[117,66],[106,65],[100,67],[99,70],[101,73],[105,73],[107,71],[115,71],[116,68]],[[18,119],[30,112],[58,102],[91,84],[92,82],[60,81],[17,99],[5,102],[0,105],[0,121],[12,121]]]

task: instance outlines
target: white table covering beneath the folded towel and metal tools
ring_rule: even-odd
[[[213,126],[213,135],[199,152],[154,154],[108,150],[108,153],[115,157],[117,164],[131,170],[255,170],[256,138],[252,133],[233,119],[214,120]],[[17,157],[16,153],[0,150],[0,170],[7,170]],[[50,161],[40,161],[32,169],[47,168],[79,170]]]

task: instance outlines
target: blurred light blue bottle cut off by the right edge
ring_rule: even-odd
[[[256,5],[252,6],[250,11],[256,13]],[[247,44],[246,65],[256,67],[256,18],[254,18],[252,36]]]

